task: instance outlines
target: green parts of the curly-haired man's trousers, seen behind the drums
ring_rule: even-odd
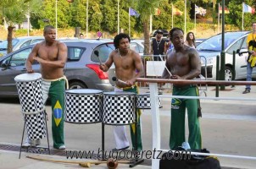
[[[133,93],[138,93],[138,89],[137,86],[135,86],[134,88],[131,89],[124,89],[124,91],[127,92],[133,92]],[[131,131],[131,142],[132,142],[132,147],[133,149],[135,149],[135,130],[137,133],[137,149],[136,150],[142,150],[142,134],[141,134],[141,110],[140,109],[136,109],[136,128],[135,128],[135,124],[131,124],[130,125],[130,131]]]

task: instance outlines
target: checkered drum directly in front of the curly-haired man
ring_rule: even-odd
[[[114,125],[135,123],[135,94],[121,91],[104,92],[103,123]]]

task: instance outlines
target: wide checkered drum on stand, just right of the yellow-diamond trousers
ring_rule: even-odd
[[[102,122],[102,90],[75,89],[65,92],[65,122]]]

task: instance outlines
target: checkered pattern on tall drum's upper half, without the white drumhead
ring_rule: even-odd
[[[16,81],[22,112],[38,112],[43,108],[42,79]]]

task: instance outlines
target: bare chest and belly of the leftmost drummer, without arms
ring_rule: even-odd
[[[46,61],[58,60],[58,41],[55,41],[52,46],[46,46],[45,41],[38,44],[38,57],[41,57]],[[41,74],[43,79],[58,79],[64,76],[63,68],[48,67],[45,64],[41,64]]]

